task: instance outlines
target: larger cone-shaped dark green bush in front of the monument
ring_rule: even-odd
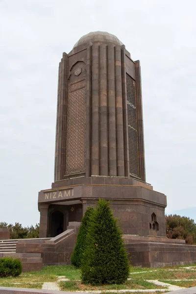
[[[129,262],[122,231],[109,203],[99,199],[90,219],[81,265],[83,283],[121,284],[129,276]]]

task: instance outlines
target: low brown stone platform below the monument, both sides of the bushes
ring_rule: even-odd
[[[20,240],[17,253],[40,253],[44,265],[71,264],[79,222],[70,222],[68,230],[52,239]],[[166,237],[123,235],[130,263],[135,266],[158,268],[196,262],[196,245]]]

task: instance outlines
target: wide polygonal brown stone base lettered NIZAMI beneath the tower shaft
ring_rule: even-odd
[[[142,182],[141,186],[122,185],[121,180],[123,182],[123,179],[111,179],[112,184],[106,184],[106,178],[104,178],[104,181],[101,177],[98,179],[99,184],[73,185],[40,192],[39,204],[48,203],[49,205],[47,237],[50,237],[50,212],[60,211],[64,214],[65,224],[63,227],[65,230],[66,222],[81,221],[86,208],[95,205],[95,200],[102,197],[111,200],[115,216],[120,218],[122,222],[124,234],[166,236],[165,207],[167,200],[164,194],[151,190],[149,185]],[[109,179],[108,183],[110,182]],[[114,184],[115,180],[117,180],[117,185]],[[129,183],[131,179],[127,180],[127,183]],[[136,183],[139,184],[140,182],[137,181]],[[80,201],[81,204],[69,205],[69,202],[73,200]],[[156,216],[154,221],[151,220],[152,214]],[[157,223],[158,229],[152,228],[154,222]],[[150,227],[150,224],[152,227]]]

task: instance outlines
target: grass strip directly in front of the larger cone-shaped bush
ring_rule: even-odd
[[[128,280],[124,284],[97,285],[81,284],[80,281],[60,282],[61,291],[90,291],[90,290],[123,290],[123,289],[163,289],[167,287],[157,286],[142,279]]]

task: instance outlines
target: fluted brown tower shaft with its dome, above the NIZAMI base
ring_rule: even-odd
[[[140,62],[107,32],[59,65],[54,181],[78,175],[146,181]]]

